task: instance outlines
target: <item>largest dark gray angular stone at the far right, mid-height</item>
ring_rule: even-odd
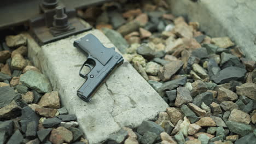
[[[229,81],[239,81],[243,80],[246,74],[245,69],[238,67],[228,67],[220,70],[219,73],[212,79],[218,84],[227,83]]]

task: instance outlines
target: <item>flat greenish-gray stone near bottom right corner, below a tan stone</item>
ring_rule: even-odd
[[[250,131],[252,131],[251,125],[247,125],[247,124],[243,124],[243,123],[227,121],[226,125],[228,126],[228,128],[231,132],[236,133],[241,136],[245,136]]]

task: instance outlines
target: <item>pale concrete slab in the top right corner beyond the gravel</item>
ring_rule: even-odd
[[[174,15],[200,23],[211,37],[228,36],[256,61],[255,0],[167,0]]]

